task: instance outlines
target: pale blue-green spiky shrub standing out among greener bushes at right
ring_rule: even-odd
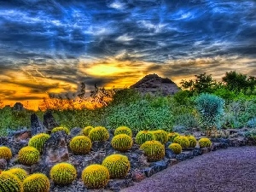
[[[195,108],[201,114],[202,124],[207,128],[218,126],[224,113],[224,100],[212,94],[202,93],[195,98]]]

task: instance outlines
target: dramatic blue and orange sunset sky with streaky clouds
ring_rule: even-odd
[[[0,100],[129,87],[149,73],[177,84],[256,76],[255,13],[255,0],[0,0]]]

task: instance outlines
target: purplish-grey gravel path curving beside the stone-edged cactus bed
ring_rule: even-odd
[[[121,192],[255,192],[256,147],[219,149],[170,166]]]

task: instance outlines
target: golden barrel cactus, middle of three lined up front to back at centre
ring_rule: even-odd
[[[119,134],[113,137],[111,145],[114,149],[125,152],[132,147],[132,138],[126,134]]]

